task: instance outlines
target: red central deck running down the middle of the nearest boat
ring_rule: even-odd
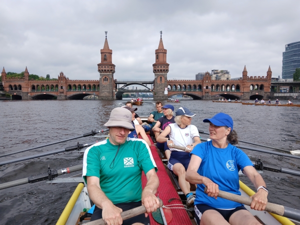
[[[149,135],[148,135],[148,137],[149,137]],[[150,139],[151,144],[153,144],[152,139],[150,137],[149,137],[149,139]],[[151,153],[154,158],[154,161],[156,163],[156,166],[158,168],[157,176],[159,178],[159,186],[157,189],[157,193],[159,195],[159,198],[162,200],[163,205],[166,206],[168,204],[182,204],[182,202],[180,200],[172,200],[170,203],[168,202],[168,200],[170,198],[180,198],[180,197],[177,194],[169,176],[167,175],[167,173],[165,171],[165,167],[164,167],[162,161],[160,160],[160,157],[156,151],[156,147],[153,145],[150,147],[150,149],[151,149]],[[142,175],[142,187],[145,186],[146,181],[147,181],[146,176],[143,174]],[[172,207],[172,206],[170,206],[170,207]],[[175,205],[173,207],[181,207],[181,206]],[[168,224],[170,224],[170,225],[192,224],[185,209],[172,208],[171,211],[172,211],[172,220]],[[159,224],[153,219],[151,214],[149,214],[149,216],[150,216],[151,225]]]

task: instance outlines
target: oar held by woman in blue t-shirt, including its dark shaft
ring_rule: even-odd
[[[206,190],[207,190],[207,187],[204,188],[204,193],[206,193]],[[238,202],[241,204],[249,205],[249,206],[252,202],[252,198],[229,193],[229,192],[222,191],[222,190],[219,190],[219,193],[217,196],[231,200],[231,201],[235,201],[235,202]],[[286,206],[283,206],[280,204],[274,204],[274,203],[267,202],[264,210],[274,213],[274,214],[277,214],[277,215],[285,216],[287,218],[300,220],[300,210],[295,209],[295,208],[290,208],[290,207],[286,207]]]

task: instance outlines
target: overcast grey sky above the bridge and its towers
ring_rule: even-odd
[[[153,79],[162,30],[168,79],[227,69],[281,77],[284,45],[300,40],[299,0],[1,0],[6,72],[99,79],[107,30],[116,79]]]

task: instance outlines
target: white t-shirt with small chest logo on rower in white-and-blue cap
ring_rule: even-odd
[[[188,125],[185,128],[180,128],[177,123],[171,123],[168,126],[171,127],[169,133],[169,139],[173,141],[175,145],[186,147],[188,144],[194,142],[193,138],[199,136],[198,129],[195,125]],[[183,151],[180,149],[170,147],[171,151]]]

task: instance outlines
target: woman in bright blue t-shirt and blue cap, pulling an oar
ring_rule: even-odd
[[[261,175],[248,156],[231,145],[237,143],[232,118],[220,112],[203,122],[209,122],[211,140],[193,148],[185,176],[187,181],[197,184],[194,200],[197,224],[260,224],[242,204],[217,198],[219,189],[240,195],[240,169],[257,188],[250,207],[263,210],[267,203],[268,191]]]

